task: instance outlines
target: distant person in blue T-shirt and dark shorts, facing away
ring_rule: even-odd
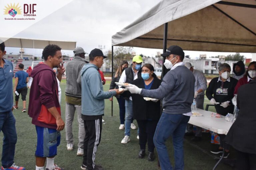
[[[28,93],[27,83],[28,74],[23,71],[24,65],[19,64],[19,71],[15,73],[15,82],[13,91],[17,91],[18,95],[15,93],[15,109],[18,109],[19,96],[21,94],[21,99],[23,101],[22,112],[26,112],[26,95]]]

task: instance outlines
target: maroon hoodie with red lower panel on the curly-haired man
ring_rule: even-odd
[[[48,108],[56,107],[60,113],[56,74],[48,65],[38,64],[33,68],[31,77],[28,115],[32,117],[32,124],[56,129],[56,119],[48,111]]]

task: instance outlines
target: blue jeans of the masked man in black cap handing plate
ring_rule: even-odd
[[[175,169],[184,169],[183,140],[189,119],[189,116],[183,114],[162,113],[154,135],[154,144],[162,170],[173,169],[165,145],[165,141],[170,136],[172,136],[173,140]]]

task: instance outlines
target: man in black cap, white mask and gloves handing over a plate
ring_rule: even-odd
[[[194,98],[195,77],[184,66],[184,52],[179,46],[170,46],[166,53],[165,67],[171,69],[164,76],[158,89],[146,90],[135,85],[126,87],[131,93],[143,97],[163,99],[163,113],[157,124],[154,144],[162,170],[172,169],[165,141],[172,136],[175,153],[175,169],[184,169],[183,138]]]

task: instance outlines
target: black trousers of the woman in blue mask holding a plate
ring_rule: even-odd
[[[137,120],[139,126],[139,144],[140,149],[146,149],[146,143],[148,142],[148,151],[154,152],[154,134],[156,130],[158,120]]]

